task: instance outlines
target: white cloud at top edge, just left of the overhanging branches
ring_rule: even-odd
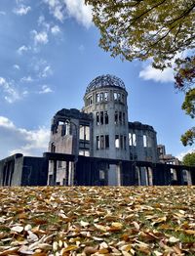
[[[92,25],[92,9],[84,0],[43,0],[49,5],[50,12],[59,21],[68,16],[86,27]]]

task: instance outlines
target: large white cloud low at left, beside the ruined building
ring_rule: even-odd
[[[48,148],[50,130],[39,127],[36,130],[26,130],[17,127],[9,118],[0,116],[1,157],[17,152],[24,155],[42,155]]]

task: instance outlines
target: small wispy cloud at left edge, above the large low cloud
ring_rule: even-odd
[[[7,81],[4,77],[0,77],[0,89],[4,92],[4,99],[9,103],[13,104],[14,102],[20,100],[20,93],[15,88],[12,81]]]

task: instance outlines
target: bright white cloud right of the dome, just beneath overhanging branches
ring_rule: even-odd
[[[151,64],[148,64],[139,72],[139,77],[144,80],[154,80],[155,82],[173,82],[174,70],[173,68],[168,67],[161,71],[152,67]]]

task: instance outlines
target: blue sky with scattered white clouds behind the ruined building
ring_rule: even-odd
[[[84,0],[0,0],[0,159],[42,156],[52,117],[81,109],[86,87],[102,74],[124,81],[129,121],[153,126],[167,153],[180,158],[194,149],[180,142],[194,121],[181,110],[173,69],[113,59],[98,39]]]

